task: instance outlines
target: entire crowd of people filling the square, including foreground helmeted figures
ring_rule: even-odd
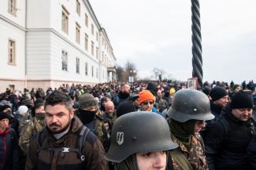
[[[0,94],[0,170],[256,169],[253,81],[111,82]]]

